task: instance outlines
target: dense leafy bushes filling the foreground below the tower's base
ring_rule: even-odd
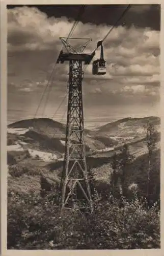
[[[159,209],[96,194],[94,216],[67,211],[61,217],[54,191],[41,198],[13,195],[8,201],[8,249],[159,248]],[[14,207],[13,207],[14,205]]]

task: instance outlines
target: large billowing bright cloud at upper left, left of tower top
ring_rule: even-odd
[[[9,51],[51,49],[61,44],[61,31],[67,36],[72,24],[66,18],[47,18],[37,8],[18,7],[8,10]]]

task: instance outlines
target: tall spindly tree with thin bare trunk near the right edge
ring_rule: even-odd
[[[148,179],[147,179],[147,197],[149,197],[149,183],[150,183],[150,175],[151,175],[151,159],[153,151],[155,150],[155,145],[157,142],[157,132],[155,131],[155,127],[149,121],[144,125],[146,130],[146,145],[148,148]]]

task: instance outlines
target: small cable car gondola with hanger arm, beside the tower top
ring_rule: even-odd
[[[92,63],[92,74],[93,75],[105,75],[106,74],[106,61],[103,58],[102,41],[98,41],[97,48],[99,46],[101,46],[100,59],[96,59]]]

